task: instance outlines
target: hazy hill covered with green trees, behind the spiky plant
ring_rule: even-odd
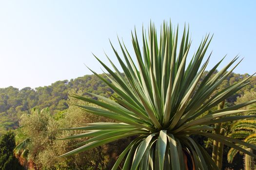
[[[249,74],[232,73],[218,90],[228,85],[235,84],[248,76]],[[256,80],[256,76],[252,79]],[[75,91],[80,90],[83,95],[85,95],[86,92],[103,96],[108,96],[108,93],[113,93],[113,91],[95,75],[85,75],[71,79],[70,81],[57,81],[52,85],[37,87],[35,89],[30,87],[18,89],[13,86],[0,88],[0,136],[9,129],[17,128],[19,126],[20,116],[24,113],[29,113],[32,108],[42,109],[49,107],[50,113],[52,114],[67,109],[68,92],[71,89]],[[237,96],[241,96],[245,91],[251,89],[256,89],[256,81],[253,81],[237,94],[234,94],[227,102],[233,104],[236,102]]]

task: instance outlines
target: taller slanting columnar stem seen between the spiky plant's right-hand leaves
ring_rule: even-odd
[[[222,101],[221,103],[219,103],[218,105],[218,110],[223,109],[224,108],[224,104],[225,101]],[[216,123],[215,124],[215,134],[220,134],[220,129],[221,129],[221,123]],[[213,153],[212,153],[212,159],[213,161],[217,164],[217,155],[218,155],[218,142],[216,140],[214,140],[213,143]]]

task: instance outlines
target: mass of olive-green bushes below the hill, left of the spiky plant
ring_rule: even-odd
[[[72,93],[75,93],[75,91],[72,90]],[[81,94],[81,92],[79,91],[77,94]],[[68,100],[67,103],[85,104],[74,98]],[[75,145],[83,141],[82,139],[57,140],[75,134],[75,132],[58,131],[58,129],[67,126],[75,127],[84,122],[92,123],[94,121],[110,120],[84,113],[72,104],[68,109],[59,112],[55,116],[50,114],[48,108],[34,109],[31,114],[24,114],[21,117],[21,127],[16,131],[18,146],[15,148],[15,154],[20,158],[20,163],[26,168],[52,170],[109,169],[115,163],[120,150],[128,144],[128,138],[119,141],[119,143],[110,143],[78,155],[52,160],[60,154],[75,149]]]

